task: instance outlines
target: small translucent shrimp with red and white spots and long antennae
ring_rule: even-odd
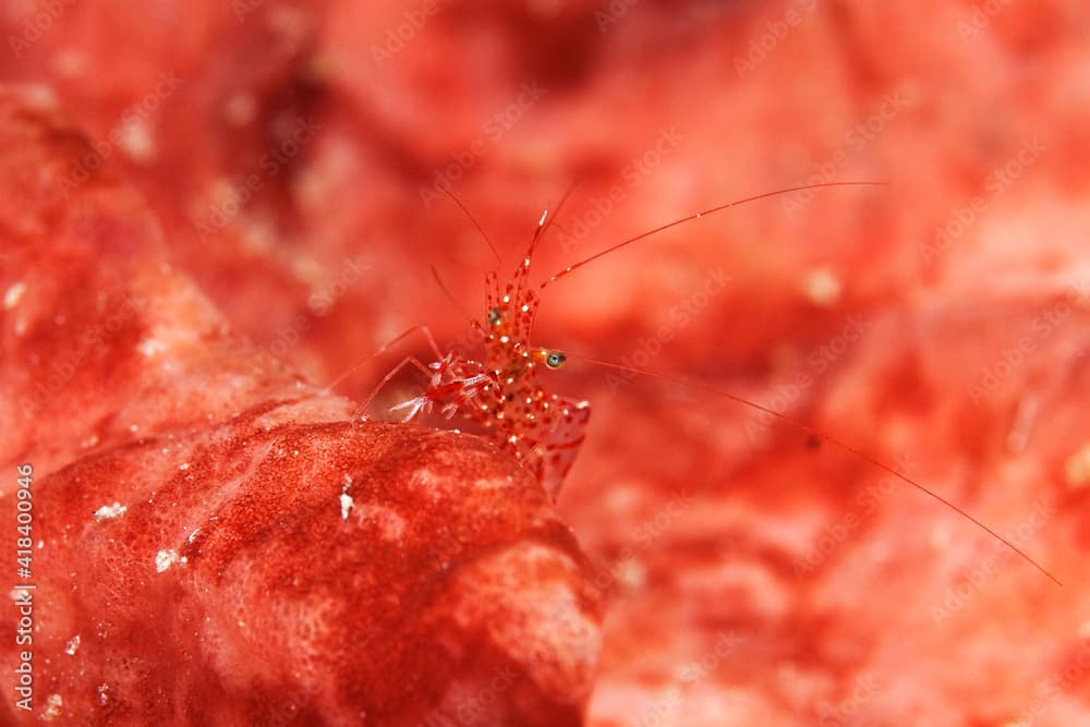
[[[774,192],[736,199],[688,215],[631,237],[565,267],[562,270],[545,278],[537,286],[534,286],[530,281],[533,254],[555,219],[555,214],[550,215],[549,210],[546,209],[537,222],[537,228],[534,230],[533,239],[525,255],[519,262],[510,280],[501,287],[499,276],[496,271],[487,274],[485,279],[485,289],[487,291],[486,324],[482,324],[472,316],[467,315],[473,330],[483,339],[485,348],[484,361],[464,358],[456,351],[443,353],[436,344],[431,330],[423,325],[415,326],[396,337],[371,354],[371,356],[367,356],[367,359],[383,353],[395,343],[419,331],[427,340],[428,347],[435,355],[435,361],[425,365],[414,356],[407,356],[378,383],[358,412],[370,404],[378,391],[392,379],[398,371],[411,364],[428,375],[427,386],[421,395],[392,407],[391,412],[404,411],[403,421],[405,422],[412,421],[422,413],[431,412],[436,407],[439,408],[439,413],[448,420],[461,413],[465,419],[482,426],[486,432],[485,436],[511,453],[516,461],[529,470],[542,484],[549,498],[555,501],[559,495],[564,480],[571,470],[579,448],[585,438],[585,429],[591,415],[591,405],[588,401],[579,401],[548,391],[541,384],[540,374],[542,368],[545,371],[557,371],[562,368],[569,359],[577,359],[584,363],[626,372],[631,375],[646,376],[669,384],[703,390],[749,407],[763,414],[771,415],[788,426],[804,433],[811,446],[820,446],[824,443],[840,448],[871,467],[893,475],[900,482],[937,500],[988,533],[989,536],[1002,543],[1006,548],[1018,555],[1054,583],[1063,585],[1044,566],[964,508],[899,470],[871,457],[858,447],[824,434],[806,422],[729,391],[701,383],[687,381],[661,373],[608,361],[597,361],[556,349],[535,346],[531,342],[534,319],[541,304],[538,290],[544,289],[552,282],[570,275],[590,263],[670,228],[758,199],[821,187],[867,185],[884,186],[885,184],[883,182],[826,182],[776,190]],[[569,190],[568,194],[560,199],[560,203],[557,205],[557,213],[562,207],[570,192]],[[473,219],[469,210],[457,197],[449,192],[447,194],[465,213],[477,230],[481,231],[482,235],[488,242],[489,247],[492,247],[493,254],[499,259],[499,254],[492,244],[492,241],[488,240],[487,234],[484,233],[484,230]],[[435,275],[436,281],[444,291],[447,292],[434,268],[433,275]],[[338,381],[342,378],[343,376]],[[335,385],[336,383],[331,386]]]

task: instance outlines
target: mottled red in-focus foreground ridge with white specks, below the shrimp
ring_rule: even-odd
[[[88,145],[52,109],[5,93],[0,148],[2,544],[31,462],[35,716],[580,722],[595,592],[525,473],[474,437],[351,424],[240,346],[109,165],[58,193]]]

